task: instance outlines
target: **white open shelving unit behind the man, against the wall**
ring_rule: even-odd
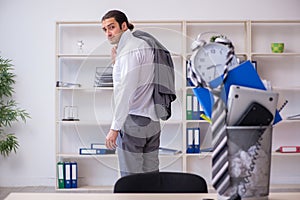
[[[201,147],[209,146],[209,123],[186,120],[186,60],[199,33],[226,35],[241,60],[255,60],[262,79],[289,103],[282,110],[282,122],[273,128],[273,151],[281,145],[299,145],[300,120],[286,120],[300,113],[300,21],[137,21],[140,29],[154,35],[171,52],[175,65],[177,100],[172,117],[162,121],[161,146],[179,149],[178,155],[161,155],[161,171],[193,172],[210,184],[211,153],[186,154],[186,129],[200,127]],[[79,155],[79,148],[105,141],[112,119],[112,88],[95,88],[96,67],[110,65],[111,45],[99,22],[57,22],[56,80],[80,83],[80,88],[56,87],[56,161],[78,163],[78,188],[111,189],[119,178],[117,155]],[[209,40],[211,34],[203,34]],[[83,42],[82,48],[78,42]],[[285,52],[271,53],[272,42],[283,41]],[[80,121],[63,121],[64,107],[77,106]],[[297,169],[300,155],[274,153],[271,184],[300,184]],[[286,169],[289,170],[286,170]],[[66,189],[64,189],[66,190]]]

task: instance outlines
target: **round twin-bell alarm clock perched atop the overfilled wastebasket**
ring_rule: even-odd
[[[209,43],[197,39],[192,44],[192,49],[189,76],[194,85],[209,86],[212,80],[223,75],[225,67],[226,70],[231,70],[238,65],[233,45],[225,37],[218,37]]]

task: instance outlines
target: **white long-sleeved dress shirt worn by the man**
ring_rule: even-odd
[[[120,130],[128,114],[158,121],[152,98],[154,55],[150,46],[125,31],[118,43],[113,66],[114,115],[111,129]]]

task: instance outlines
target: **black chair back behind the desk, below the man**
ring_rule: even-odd
[[[207,183],[196,174],[181,172],[140,173],[121,177],[114,193],[207,193]]]

